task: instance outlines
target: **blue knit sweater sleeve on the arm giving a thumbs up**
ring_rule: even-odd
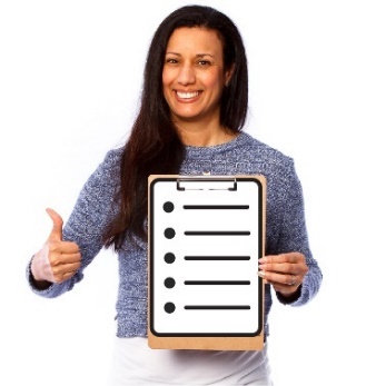
[[[103,247],[102,234],[106,226],[117,212],[115,191],[119,182],[119,151],[110,150],[83,185],[63,227],[63,240],[77,243],[80,248],[80,268],[68,280],[39,289],[33,285],[30,260],[27,266],[27,279],[34,294],[47,298],[58,297],[82,280],[85,268]]]

